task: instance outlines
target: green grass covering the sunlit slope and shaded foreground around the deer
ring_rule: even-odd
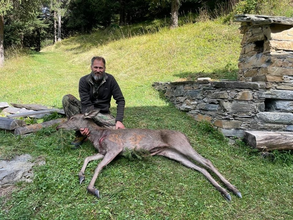
[[[131,37],[121,29],[65,39],[40,53],[7,59],[0,101],[62,108],[63,95],[78,97],[78,81],[90,72],[91,57],[103,56],[125,96],[125,126],[182,131],[237,186],[242,199],[231,195],[227,202],[202,174],[159,156],[115,159],[96,181],[97,199],[86,186],[98,161],[89,163],[85,183],[78,181],[83,160],[96,153],[91,143],[71,150],[74,132],[55,127],[26,137],[0,131],[0,159],[29,153],[46,162],[34,167],[33,183],[17,183],[0,198],[0,219],[293,219],[290,152],[270,161],[241,142],[229,145],[212,126],[180,112],[151,86],[198,76],[236,79],[238,28],[197,22]],[[114,102],[111,110],[115,114]]]

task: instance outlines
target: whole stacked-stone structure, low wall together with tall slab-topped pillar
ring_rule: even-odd
[[[293,131],[293,19],[235,18],[243,34],[238,81],[155,82],[154,88],[227,137],[241,138],[246,130]]]

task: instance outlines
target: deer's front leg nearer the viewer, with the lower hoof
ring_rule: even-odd
[[[107,152],[105,154],[103,160],[96,167],[95,173],[92,176],[92,180],[89,183],[88,187],[86,188],[89,193],[91,193],[94,196],[100,198],[99,189],[96,189],[95,186],[94,186],[95,182],[96,182],[96,179],[98,178],[98,175],[99,175],[100,171],[103,169],[103,167],[105,167],[108,163],[110,163],[121,152],[121,150],[116,151],[116,152],[114,152],[114,151],[113,152]]]

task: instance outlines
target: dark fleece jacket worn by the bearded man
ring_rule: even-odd
[[[113,75],[106,73],[106,81],[99,87],[98,95],[95,97],[93,94],[93,83],[91,74],[85,75],[80,78],[78,92],[81,101],[81,112],[85,113],[85,110],[93,105],[95,108],[99,108],[101,113],[110,114],[110,101],[113,96],[117,104],[117,116],[116,121],[123,121],[125,99],[121,92],[121,89],[115,80]]]

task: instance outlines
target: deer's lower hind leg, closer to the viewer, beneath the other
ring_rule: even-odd
[[[220,186],[218,184],[218,182],[215,181],[215,179],[211,176],[211,174],[209,174],[209,172],[204,169],[203,167],[200,167],[196,164],[194,164],[193,162],[191,162],[185,155],[181,154],[180,152],[174,150],[174,149],[168,149],[165,148],[163,150],[161,150],[160,152],[157,153],[157,155],[160,156],[165,156],[168,157],[172,160],[176,160],[179,163],[182,163],[184,166],[189,167],[191,169],[194,169],[196,171],[199,171],[200,173],[202,173],[207,179],[208,181],[210,181],[212,183],[212,185],[219,190],[219,192],[225,196],[225,199],[227,201],[231,201],[231,196],[230,194],[227,192],[226,189],[224,189],[222,186]]]

